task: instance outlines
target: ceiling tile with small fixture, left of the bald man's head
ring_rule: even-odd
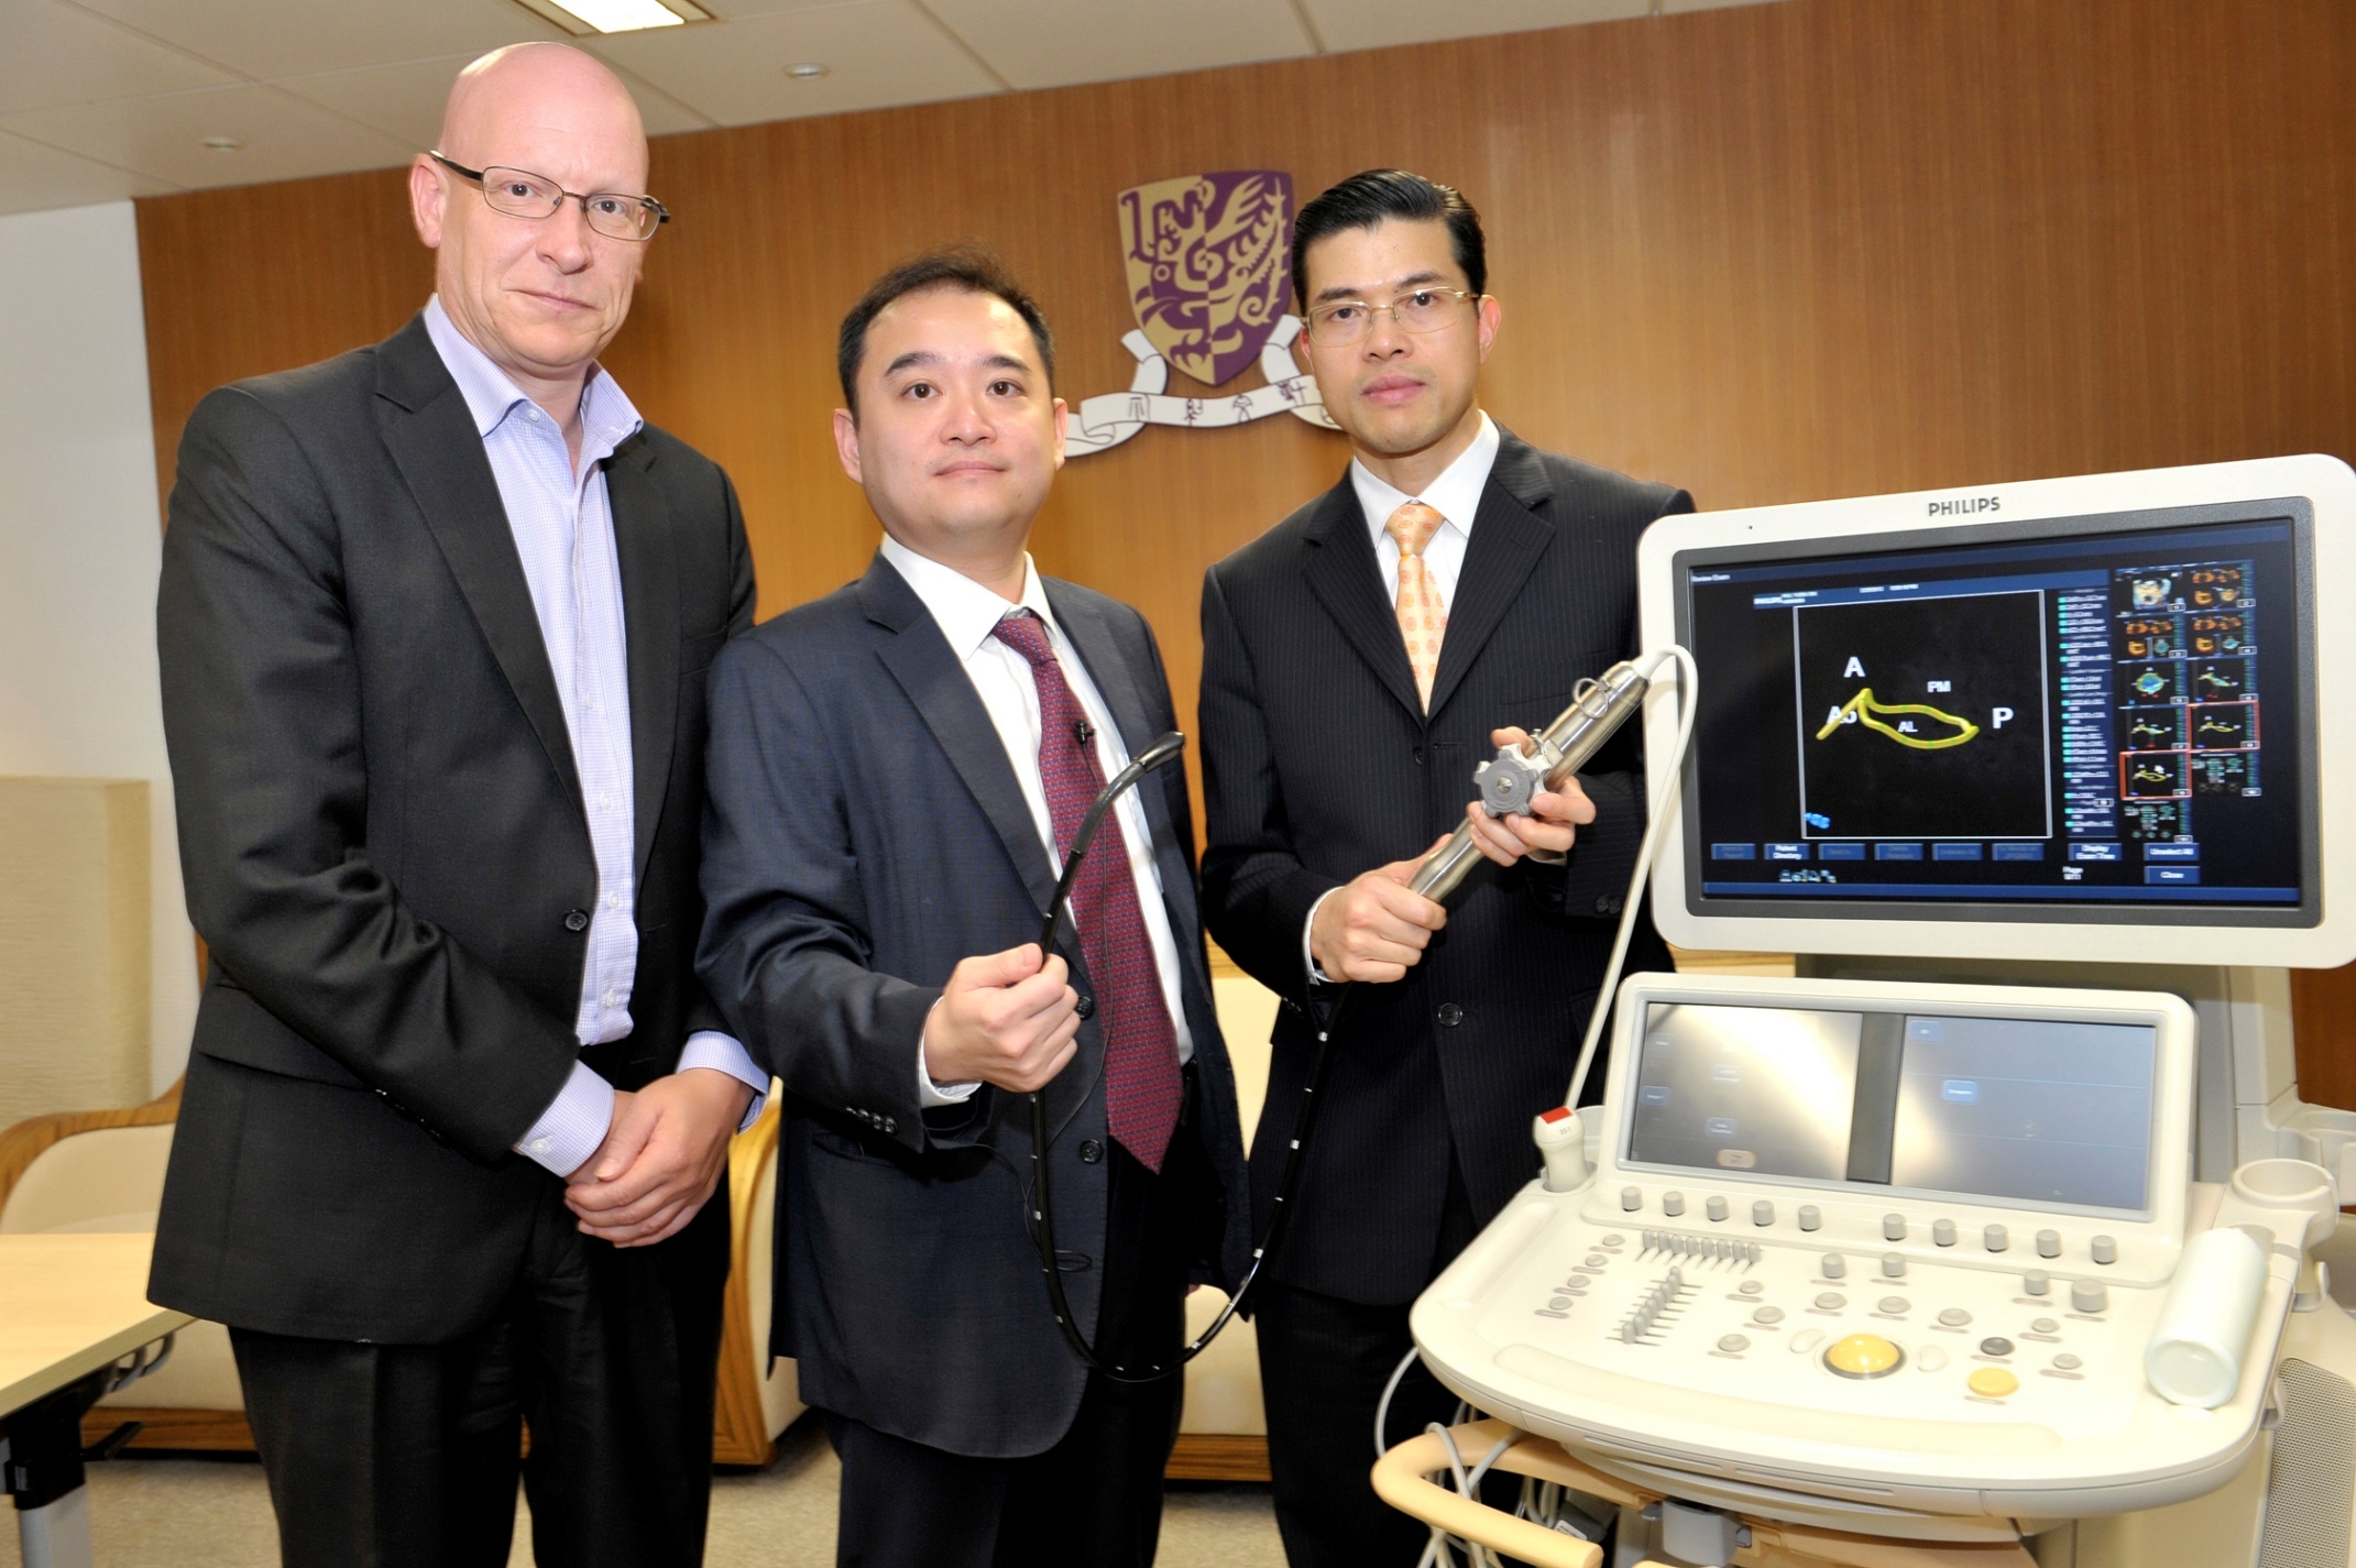
[[[191,188],[379,170],[415,151],[273,87],[38,108],[0,118],[0,129]],[[205,137],[236,137],[245,146],[214,153]]]

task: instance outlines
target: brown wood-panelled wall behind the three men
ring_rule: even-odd
[[[1117,391],[1114,193],[1197,170],[1463,186],[1505,306],[1489,407],[1703,506],[2356,454],[2349,80],[2344,0],[1786,0],[667,137],[679,221],[608,363],[735,476],[763,614],[876,537],[827,440],[867,278],[987,240],[1060,391]],[[207,386],[382,337],[431,280],[398,174],[139,228],[165,471]],[[1147,612],[1187,713],[1202,567],[1341,464],[1286,417],[1147,428],[1065,471],[1037,556]]]

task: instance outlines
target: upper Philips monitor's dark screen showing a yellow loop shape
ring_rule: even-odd
[[[1694,913],[2314,923],[2302,523],[2245,511],[1680,556]]]

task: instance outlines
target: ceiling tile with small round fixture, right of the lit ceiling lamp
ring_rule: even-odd
[[[721,125],[836,115],[997,92],[999,82],[907,0],[855,0],[690,28],[620,33],[605,59]],[[794,80],[789,64],[827,75]]]

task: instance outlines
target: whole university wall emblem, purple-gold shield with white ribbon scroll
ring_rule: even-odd
[[[1138,360],[1126,393],[1072,410],[1070,457],[1105,452],[1147,424],[1192,428],[1293,414],[1333,428],[1317,381],[1293,365],[1301,318],[1284,311],[1291,287],[1293,177],[1279,170],[1185,174],[1117,198],[1129,308],[1138,330],[1121,339]],[[1171,365],[1220,386],[1253,363],[1265,386],[1213,396],[1166,396]]]

